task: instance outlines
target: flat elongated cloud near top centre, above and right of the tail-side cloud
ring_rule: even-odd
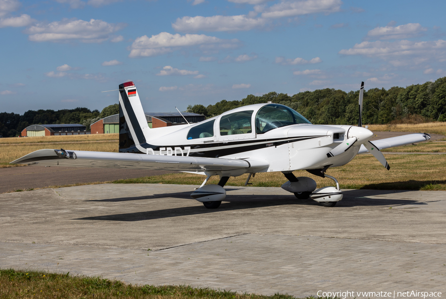
[[[215,15],[212,17],[182,17],[177,18],[172,28],[179,32],[205,31],[247,31],[254,28],[260,28],[267,23],[262,18],[249,18],[246,15],[223,16]]]

